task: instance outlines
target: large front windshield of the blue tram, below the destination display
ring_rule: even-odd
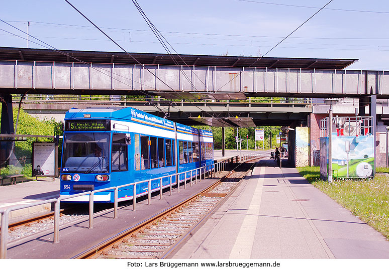
[[[74,133],[64,136],[62,172],[108,173],[110,133]]]

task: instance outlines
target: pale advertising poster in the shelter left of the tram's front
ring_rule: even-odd
[[[33,142],[32,176],[55,176],[54,142]]]

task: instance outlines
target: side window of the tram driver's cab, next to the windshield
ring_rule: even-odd
[[[128,171],[126,134],[112,135],[112,171]]]

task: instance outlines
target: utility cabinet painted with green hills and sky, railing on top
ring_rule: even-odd
[[[368,178],[375,173],[372,117],[334,117],[332,134],[333,178]],[[320,120],[320,175],[328,178],[328,117]]]

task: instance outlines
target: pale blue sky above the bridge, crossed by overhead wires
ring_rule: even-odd
[[[179,54],[261,56],[328,1],[138,3]],[[70,2],[127,51],[166,53],[131,0]],[[266,56],[351,58],[359,62],[348,69],[389,70],[389,2],[334,0],[327,8]],[[62,0],[7,1],[2,3],[0,19],[24,31],[30,21],[29,33],[57,49],[121,51]],[[0,29],[0,46],[27,47],[26,40],[3,30],[26,35],[3,22]],[[42,48],[31,41],[29,47]]]

